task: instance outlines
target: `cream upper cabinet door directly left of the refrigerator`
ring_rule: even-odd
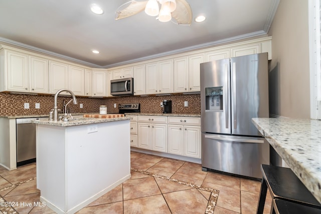
[[[189,91],[201,91],[200,64],[204,62],[204,54],[189,57]]]

